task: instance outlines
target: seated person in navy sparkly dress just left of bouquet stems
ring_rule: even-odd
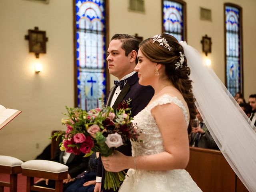
[[[88,168],[76,176],[75,182],[65,192],[93,192],[96,184],[98,152],[90,156]]]

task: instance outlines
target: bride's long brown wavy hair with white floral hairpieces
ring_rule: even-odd
[[[181,92],[190,112],[190,122],[196,118],[195,99],[192,84],[189,79],[190,68],[184,56],[183,47],[178,40],[168,34],[160,34],[142,41],[140,51],[150,61],[165,66],[165,74],[174,86]],[[189,126],[188,132],[191,128]]]

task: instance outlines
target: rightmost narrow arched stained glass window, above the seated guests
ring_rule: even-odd
[[[242,8],[233,4],[224,4],[224,8],[226,87],[235,96],[236,92],[243,92]]]

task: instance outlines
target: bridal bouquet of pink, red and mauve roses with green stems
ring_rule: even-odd
[[[85,156],[90,156],[93,152],[109,156],[128,140],[137,141],[139,134],[132,126],[130,101],[120,103],[115,112],[110,106],[95,108],[88,112],[66,106],[68,113],[65,115],[68,117],[62,119],[62,124],[67,126],[67,130],[54,135],[62,135],[60,149],[74,154],[84,153]],[[113,188],[115,191],[124,178],[124,171],[106,171],[104,188]]]

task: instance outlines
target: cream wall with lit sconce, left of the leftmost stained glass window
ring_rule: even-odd
[[[0,130],[0,154],[30,160],[50,143],[52,130],[62,129],[64,106],[74,105],[72,1],[1,0],[0,7],[0,104],[22,110]],[[24,38],[35,26],[49,38],[39,59]]]

